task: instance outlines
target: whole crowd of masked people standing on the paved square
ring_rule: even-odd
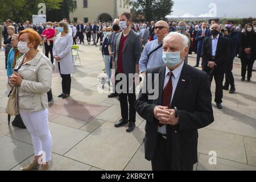
[[[72,46],[84,44],[85,35],[88,44],[91,38],[94,46],[100,43],[105,72],[113,85],[109,97],[118,97],[120,101],[121,119],[114,126],[128,123],[126,131],[131,132],[137,112],[146,119],[145,156],[151,160],[153,170],[193,169],[197,162],[197,129],[214,121],[210,82],[214,77],[214,101],[222,109],[223,90],[229,90],[230,94],[236,91],[234,57],[239,55],[241,80],[245,81],[247,71],[248,82],[256,59],[256,22],[243,28],[232,20],[222,25],[216,20],[210,24],[164,20],[133,23],[131,14],[124,12],[111,23],[69,23],[63,19],[58,23],[32,26],[26,21],[13,26],[9,19],[0,26],[0,32],[8,82],[17,88],[20,119],[34,146],[35,158],[23,167],[24,171],[38,166],[42,171],[49,169],[52,137],[48,101],[52,100],[52,65],[55,63],[55,71],[62,78],[63,93],[59,97],[68,98],[74,72]],[[44,53],[38,51],[41,44]],[[188,65],[188,55],[192,52],[197,54],[195,68]],[[202,71],[198,68],[201,58]],[[154,78],[148,79],[155,74],[159,75],[159,85],[154,85]],[[135,88],[141,81],[139,75],[146,78],[142,85],[159,89],[157,98],[150,99],[152,93],[146,86],[146,92],[141,91],[137,100]],[[115,87],[124,80],[127,85]],[[41,164],[38,159],[42,151],[46,152],[46,159]]]

